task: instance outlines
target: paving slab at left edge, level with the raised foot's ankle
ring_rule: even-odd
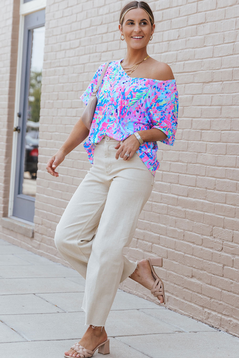
[[[70,267],[65,267],[63,265],[31,265],[30,267],[29,265],[9,265],[1,267],[0,274],[2,277],[8,279],[21,277],[32,278],[80,276],[76,270],[71,269]]]

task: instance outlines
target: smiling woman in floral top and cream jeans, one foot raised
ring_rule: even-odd
[[[59,221],[55,244],[61,255],[86,279],[82,309],[89,325],[64,357],[109,353],[105,321],[119,283],[127,277],[151,290],[165,304],[163,283],[152,265],[162,258],[134,262],[123,255],[159,168],[157,141],[173,145],[177,129],[178,92],[171,68],[149,57],[154,33],[152,11],[144,1],[132,1],[120,14],[125,58],[111,61],[97,92],[90,131],[81,118],[58,152],[48,160],[48,173],[84,143],[92,167]],[[87,104],[105,63],[97,69],[80,97]],[[96,232],[97,231],[97,232]],[[73,322],[75,324],[75,322]]]

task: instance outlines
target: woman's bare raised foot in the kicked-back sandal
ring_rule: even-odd
[[[130,279],[139,282],[140,285],[146,287],[149,290],[152,289],[152,286],[156,281],[155,277],[152,274],[152,270],[147,258],[143,258],[143,260],[140,260],[138,262],[137,268],[135,269],[133,274],[131,274],[129,277]],[[163,296],[159,296],[159,297],[160,297],[159,302],[163,303]]]

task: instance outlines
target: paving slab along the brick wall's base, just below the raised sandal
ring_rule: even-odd
[[[201,323],[190,317],[183,316],[180,313],[166,310],[154,310],[154,309],[140,309],[144,313],[158,318],[163,322],[167,322],[177,327],[179,330],[184,332],[199,332],[199,331],[216,331],[215,328],[210,327],[205,323]]]

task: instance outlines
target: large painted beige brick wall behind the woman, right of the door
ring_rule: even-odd
[[[239,335],[238,1],[148,3],[156,22],[148,53],[174,73],[178,130],[173,147],[158,142],[161,167],[124,253],[162,256],[156,271],[167,307]],[[4,238],[66,266],[54,232],[91,164],[83,144],[66,156],[58,178],[46,163],[80,117],[79,97],[98,66],[126,54],[118,30],[124,4],[47,1],[34,238],[6,229]],[[130,279],[119,288],[156,301]]]

